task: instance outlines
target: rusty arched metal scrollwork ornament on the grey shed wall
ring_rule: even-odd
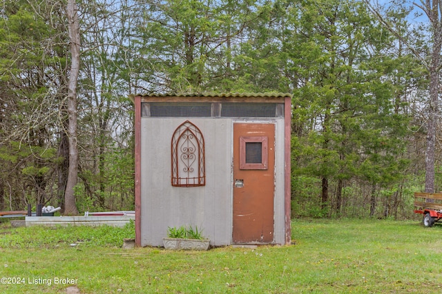
[[[172,136],[172,186],[206,185],[204,137],[200,129],[186,120]]]

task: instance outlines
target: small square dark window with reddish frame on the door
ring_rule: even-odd
[[[240,137],[240,169],[267,169],[267,137]]]

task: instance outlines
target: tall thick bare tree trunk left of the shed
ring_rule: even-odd
[[[70,76],[68,82],[68,142],[69,142],[69,169],[66,191],[64,193],[64,213],[78,214],[75,204],[74,187],[78,175],[78,147],[77,147],[77,81],[80,69],[80,29],[78,8],[75,0],[68,0],[66,8],[68,16],[68,32],[70,39]]]

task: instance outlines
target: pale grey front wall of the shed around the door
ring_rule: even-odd
[[[206,185],[171,186],[171,138],[189,119],[205,142]],[[204,229],[212,246],[231,244],[231,174],[234,118],[142,118],[141,246],[162,246],[168,227],[191,224]],[[284,119],[276,123],[275,242],[285,244]],[[257,122],[257,120],[253,120]],[[269,122],[269,120],[258,120]]]

